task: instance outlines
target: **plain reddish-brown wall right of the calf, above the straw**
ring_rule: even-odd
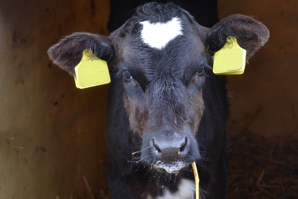
[[[297,10],[296,0],[218,0],[219,19],[235,13],[251,15],[270,30],[268,43],[249,60],[244,74],[228,76],[230,135],[297,138]]]

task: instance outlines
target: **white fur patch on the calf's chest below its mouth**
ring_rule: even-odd
[[[178,190],[171,193],[169,189],[165,188],[163,195],[156,199],[194,199],[195,198],[195,181],[182,179]],[[148,199],[153,199],[150,196]]]

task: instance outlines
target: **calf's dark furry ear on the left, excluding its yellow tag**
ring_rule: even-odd
[[[95,56],[111,62],[114,49],[107,37],[92,33],[73,33],[52,45],[47,51],[49,58],[63,70],[73,75],[84,49],[91,49]]]

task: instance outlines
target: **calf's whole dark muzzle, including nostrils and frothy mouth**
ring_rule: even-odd
[[[187,132],[150,132],[142,144],[141,161],[160,172],[177,173],[200,159],[195,136]]]

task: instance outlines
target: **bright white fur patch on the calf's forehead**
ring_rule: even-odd
[[[143,25],[141,38],[150,47],[161,49],[176,36],[183,35],[181,20],[177,17],[166,23],[142,21],[140,24]]]

